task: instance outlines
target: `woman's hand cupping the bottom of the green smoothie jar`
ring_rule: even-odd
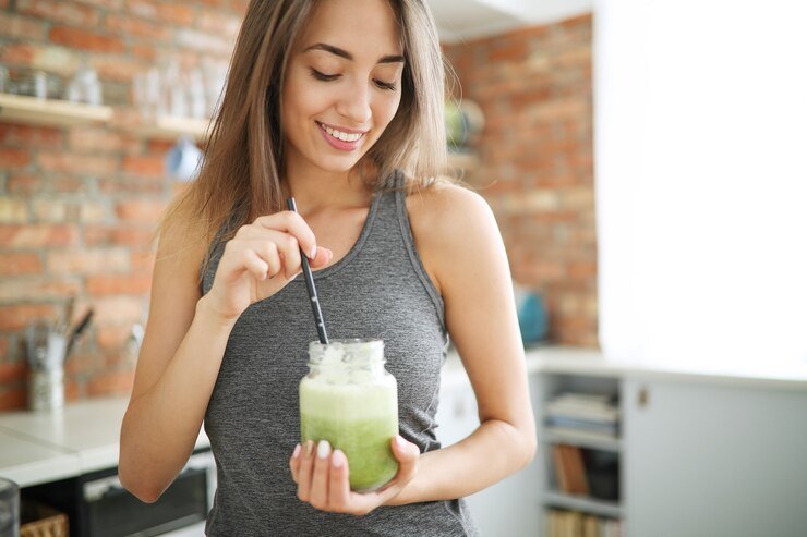
[[[398,460],[398,473],[392,481],[373,492],[353,492],[348,480],[348,459],[341,450],[330,449],[327,440],[318,446],[309,440],[298,444],[289,466],[297,483],[297,497],[321,511],[364,515],[398,496],[418,471],[420,449],[400,435],[392,440]]]

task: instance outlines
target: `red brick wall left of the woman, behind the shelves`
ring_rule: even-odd
[[[72,76],[87,60],[115,110],[106,126],[0,121],[0,410],[25,405],[23,329],[77,295],[91,328],[67,364],[67,398],[128,393],[132,325],[148,306],[154,224],[177,190],[171,143],[123,126],[135,73],[174,53],[227,62],[246,0],[0,0],[0,63]]]

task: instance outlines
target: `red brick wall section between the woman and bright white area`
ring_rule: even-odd
[[[553,340],[598,345],[591,15],[445,53],[485,112],[465,180],[493,207],[514,278],[544,293]]]

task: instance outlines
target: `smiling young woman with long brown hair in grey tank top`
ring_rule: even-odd
[[[423,0],[253,0],[204,168],[160,227],[123,419],[120,478],[146,502],[200,428],[218,489],[207,535],[475,535],[461,500],[534,455],[509,269],[478,195],[445,163],[444,70]],[[293,195],[300,212],[285,209]],[[352,492],[345,454],[300,446],[298,383],[317,339],[384,340],[398,382],[395,478]],[[448,334],[481,425],[441,449]]]

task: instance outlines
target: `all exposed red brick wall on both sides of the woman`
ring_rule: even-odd
[[[0,0],[0,63],[70,76],[86,59],[116,114],[100,127],[0,122],[0,410],[25,405],[25,325],[56,317],[72,294],[96,315],[68,363],[68,399],[131,389],[124,343],[145,321],[146,242],[177,188],[162,175],[170,143],[121,126],[134,113],[132,77],[167,51],[183,66],[226,61],[245,8]],[[496,211],[514,276],[546,291],[557,340],[595,343],[590,19],[446,52],[487,115],[482,166],[468,179]]]

